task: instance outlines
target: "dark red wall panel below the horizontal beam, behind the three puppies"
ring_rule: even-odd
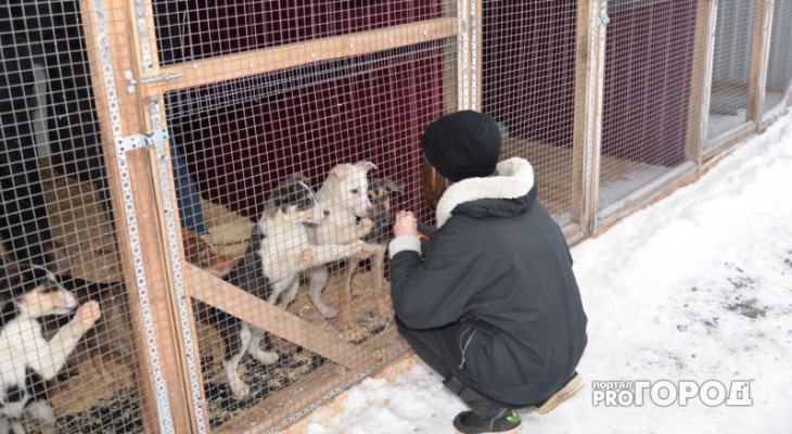
[[[443,115],[443,43],[322,62],[168,94],[168,122],[205,199],[256,218],[277,182],[319,186],[370,159],[421,208],[420,136]],[[425,212],[425,210],[424,210]]]

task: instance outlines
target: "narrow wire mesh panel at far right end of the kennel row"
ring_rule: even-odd
[[[792,2],[775,0],[763,119],[771,120],[789,105],[792,92]]]

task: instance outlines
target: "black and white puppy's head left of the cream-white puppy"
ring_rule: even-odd
[[[318,224],[330,215],[328,208],[317,201],[308,179],[294,175],[281,182],[272,192],[272,204],[285,215],[304,224]]]

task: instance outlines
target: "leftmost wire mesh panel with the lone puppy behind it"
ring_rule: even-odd
[[[105,165],[124,141],[114,143],[102,127],[120,132],[120,119],[137,110],[108,106],[97,94],[103,69],[94,66],[118,48],[106,21],[124,10],[105,9],[99,23],[81,4],[89,3],[0,7],[0,425],[159,431],[167,424],[156,406],[141,404],[151,378],[139,374],[146,362],[140,357],[148,357],[144,322],[153,327],[157,318],[144,321],[135,279],[127,285],[131,264],[120,261],[118,243],[126,226],[116,225],[129,210],[113,207],[111,186],[123,180]],[[86,40],[98,33],[106,36],[104,52]]]

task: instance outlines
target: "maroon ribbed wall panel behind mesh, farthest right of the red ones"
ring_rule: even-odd
[[[602,152],[649,164],[685,159],[695,0],[609,10]]]

